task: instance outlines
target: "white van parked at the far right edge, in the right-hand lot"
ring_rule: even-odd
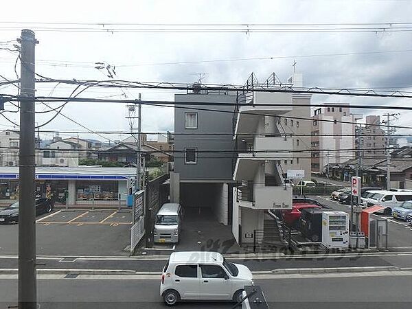
[[[394,191],[380,191],[375,192],[369,198],[365,199],[367,207],[380,205],[386,207],[383,214],[391,216],[392,210],[399,207],[404,201],[412,200],[412,192],[394,192]]]

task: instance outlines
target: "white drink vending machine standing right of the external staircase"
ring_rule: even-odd
[[[349,214],[343,211],[322,212],[322,244],[328,249],[348,249]]]

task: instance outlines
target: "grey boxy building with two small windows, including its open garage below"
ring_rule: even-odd
[[[185,209],[211,211],[227,225],[231,222],[234,106],[225,103],[235,104],[236,93],[195,89],[176,94],[174,100],[174,172],[180,174],[181,204]],[[179,102],[194,104],[179,106]],[[216,105],[198,105],[202,102]]]

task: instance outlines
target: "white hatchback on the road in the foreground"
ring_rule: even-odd
[[[180,300],[239,301],[250,285],[249,268],[227,262],[218,252],[174,252],[163,268],[160,295],[170,306]]]

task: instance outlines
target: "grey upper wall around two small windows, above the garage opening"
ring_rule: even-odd
[[[235,103],[236,95],[175,95],[179,102],[225,102]],[[221,111],[233,111],[233,106],[188,106],[212,108]],[[185,129],[185,112],[198,113],[198,128]],[[180,173],[181,181],[187,180],[216,180],[216,182],[231,181],[231,153],[201,153],[201,150],[233,151],[232,133],[233,113],[216,113],[214,111],[194,111],[186,108],[174,110],[174,172]],[[179,135],[179,133],[229,133],[229,135]],[[185,164],[185,148],[196,147],[198,150],[197,163]],[[218,158],[218,159],[216,159]]]

